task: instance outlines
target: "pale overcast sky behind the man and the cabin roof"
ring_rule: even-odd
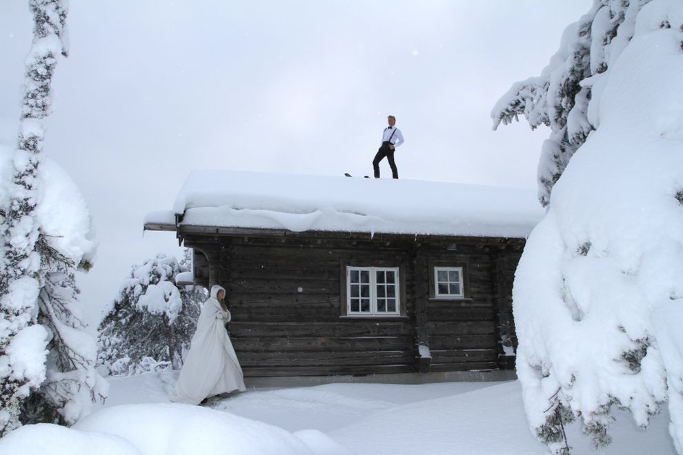
[[[12,144],[32,17],[27,0],[2,3],[0,142]],[[493,132],[491,108],[540,74],[592,0],[69,3],[45,152],[95,219],[97,261],[79,286],[96,323],[130,265],[179,254],[174,234],[143,236],[143,218],[170,210],[190,169],[371,174],[394,114],[403,179],[535,188],[549,131]]]

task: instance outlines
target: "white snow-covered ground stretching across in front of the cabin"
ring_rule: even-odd
[[[208,406],[170,404],[174,372],[110,378],[110,398],[72,429],[30,425],[0,454],[545,454],[528,432],[519,383],[328,384],[250,389]],[[675,454],[666,411],[644,431],[624,412],[614,443],[573,454]]]

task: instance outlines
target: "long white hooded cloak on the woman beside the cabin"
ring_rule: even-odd
[[[211,296],[201,308],[197,332],[170,394],[171,401],[197,405],[207,396],[246,390],[242,369],[225,329],[230,312],[223,310],[218,301],[220,290],[225,292],[219,285],[211,287]]]

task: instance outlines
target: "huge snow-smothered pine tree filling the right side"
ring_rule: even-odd
[[[645,428],[667,400],[683,454],[682,32],[680,1],[596,0],[542,76],[494,110],[494,121],[524,112],[551,128],[566,114],[567,134],[553,130],[551,148],[580,145],[571,161],[553,161],[559,178],[552,196],[541,190],[546,216],[513,287],[526,416],[555,454],[570,451],[570,421],[606,445],[613,407]],[[575,62],[586,58],[591,76],[575,78],[573,101],[561,97],[553,87],[571,92],[568,69],[580,74]],[[591,128],[571,143],[573,131]]]

